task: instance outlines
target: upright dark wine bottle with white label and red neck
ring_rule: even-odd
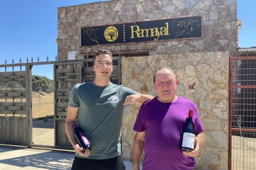
[[[189,110],[189,118],[183,131],[181,150],[192,151],[195,146],[195,128],[193,125],[193,110]]]

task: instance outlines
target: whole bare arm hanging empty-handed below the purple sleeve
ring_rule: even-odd
[[[132,148],[132,169],[140,169],[140,158],[144,150],[145,132],[137,132],[134,137],[134,147]]]

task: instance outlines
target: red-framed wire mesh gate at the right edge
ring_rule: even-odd
[[[229,59],[229,169],[256,169],[256,57]]]

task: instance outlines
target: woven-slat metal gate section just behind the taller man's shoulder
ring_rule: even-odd
[[[54,145],[58,148],[71,148],[67,138],[65,121],[67,105],[72,87],[82,83],[83,62],[58,62],[54,64]]]

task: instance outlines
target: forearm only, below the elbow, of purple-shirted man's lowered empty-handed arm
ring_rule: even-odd
[[[144,142],[134,139],[134,147],[132,148],[132,169],[140,169],[140,158],[142,157]]]

